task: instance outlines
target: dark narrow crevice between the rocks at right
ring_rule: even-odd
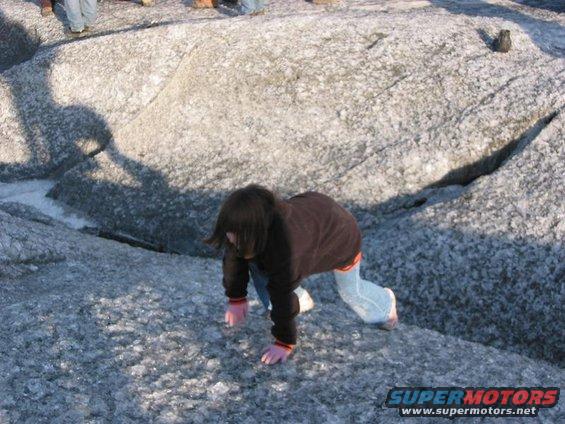
[[[520,137],[512,140],[484,158],[450,171],[439,181],[430,184],[426,188],[436,189],[451,185],[460,185],[465,187],[479,177],[492,174],[502,167],[512,156],[519,154],[547,125],[549,125],[556,116],[557,112],[552,112],[551,114],[538,119],[536,123],[522,133]]]

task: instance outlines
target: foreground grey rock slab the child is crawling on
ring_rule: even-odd
[[[0,217],[3,230],[28,237],[29,255],[43,244],[65,255],[2,278],[2,422],[437,422],[401,419],[383,406],[388,389],[564,379],[543,361],[435,331],[364,325],[326,274],[308,282],[317,305],[298,318],[292,360],[268,367],[259,358],[270,321],[256,300],[243,327],[224,326],[219,261]],[[560,414],[558,405],[539,420]]]

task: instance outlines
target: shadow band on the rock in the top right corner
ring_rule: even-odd
[[[565,28],[557,22],[546,21],[512,10],[508,7],[490,4],[480,0],[473,2],[431,0],[431,3],[453,14],[501,18],[509,22],[514,22],[520,25],[520,27],[528,34],[530,39],[544,53],[558,58],[565,57],[565,47],[549,45],[547,43],[547,34],[550,33],[552,34],[552,38],[555,40],[565,39]]]

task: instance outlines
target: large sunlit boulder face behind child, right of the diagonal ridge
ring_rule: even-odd
[[[52,195],[191,254],[210,253],[222,199],[252,182],[378,218],[454,172],[481,175],[562,103],[559,61],[519,24],[511,54],[485,44],[478,30],[499,20],[438,8],[181,25],[198,42],[164,88]]]

